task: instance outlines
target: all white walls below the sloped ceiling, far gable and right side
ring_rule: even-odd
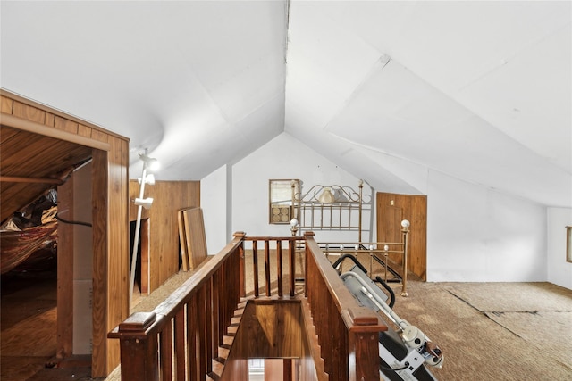
[[[399,170],[391,169],[399,176]],[[289,225],[268,223],[268,180],[299,178],[303,188],[315,184],[357,186],[355,178],[299,140],[283,133],[259,148],[230,171],[218,171],[201,181],[201,204],[205,219],[215,222],[206,228],[207,242],[212,229],[222,229],[220,210],[224,181],[231,189],[226,216],[231,227],[227,239],[218,239],[210,253],[228,243],[231,233],[244,230],[251,236],[289,236]],[[535,282],[551,281],[572,288],[572,264],[563,264],[564,226],[572,225],[571,212],[501,194],[491,188],[467,183],[434,170],[420,170],[419,179],[427,194],[427,280],[432,282]],[[367,181],[367,178],[364,178]],[[368,186],[365,186],[366,190]],[[369,189],[367,189],[369,191]],[[383,192],[384,189],[375,189]],[[228,197],[229,195],[227,195]],[[213,208],[206,203],[216,203]],[[212,210],[216,216],[210,216]],[[373,226],[373,231],[375,227]],[[220,236],[220,235],[219,235]],[[224,235],[223,235],[224,236]],[[357,233],[316,231],[316,240],[355,241]],[[374,240],[365,236],[364,240]],[[564,239],[564,238],[562,238]],[[560,240],[561,241],[561,240]],[[214,242],[214,241],[213,241]],[[557,242],[557,244],[554,244]],[[547,249],[548,247],[548,249]],[[548,250],[548,253],[547,253]],[[560,254],[561,253],[561,254]]]

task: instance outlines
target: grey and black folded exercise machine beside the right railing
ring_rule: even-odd
[[[425,366],[441,368],[443,362],[441,349],[419,328],[401,319],[391,309],[395,302],[395,294],[391,291],[391,287],[383,282],[383,279],[376,277],[375,281],[383,286],[388,294],[375,285],[374,280],[367,277],[366,269],[355,257],[350,254],[345,257],[334,262],[333,265],[338,269],[341,261],[345,259],[355,263],[349,271],[340,275],[349,292],[363,306],[377,313],[383,313],[398,327],[397,331],[389,327],[387,331],[379,334],[380,377],[389,381],[436,380]]]

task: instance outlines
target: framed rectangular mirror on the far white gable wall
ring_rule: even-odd
[[[292,200],[299,195],[299,179],[268,180],[269,223],[290,224],[293,218]]]

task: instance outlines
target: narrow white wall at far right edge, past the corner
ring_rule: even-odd
[[[572,289],[572,263],[566,261],[566,227],[572,209],[548,208],[548,281]]]

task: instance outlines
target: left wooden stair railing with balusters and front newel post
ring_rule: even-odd
[[[212,371],[240,302],[243,238],[235,233],[153,311],[132,314],[107,335],[120,339],[123,380],[204,379]]]

